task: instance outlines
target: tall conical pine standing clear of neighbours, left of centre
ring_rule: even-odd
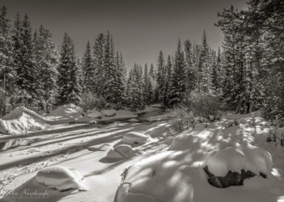
[[[57,104],[80,103],[81,86],[79,83],[75,46],[67,33],[64,34],[58,65],[58,97]]]

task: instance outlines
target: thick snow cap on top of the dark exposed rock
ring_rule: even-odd
[[[242,169],[269,174],[272,171],[271,154],[259,147],[229,147],[204,162],[214,176],[226,176],[229,171],[240,173]]]

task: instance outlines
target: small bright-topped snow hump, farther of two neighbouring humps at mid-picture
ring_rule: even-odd
[[[124,137],[121,139],[121,143],[130,144],[130,145],[141,145],[148,142],[149,137],[140,132],[129,132],[124,134]]]

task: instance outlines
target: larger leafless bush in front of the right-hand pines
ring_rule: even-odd
[[[185,100],[185,105],[190,109],[195,117],[204,117],[207,119],[220,119],[221,99],[217,95],[210,93],[192,92]]]

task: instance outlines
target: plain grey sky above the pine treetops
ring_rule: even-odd
[[[223,34],[214,26],[217,12],[233,5],[246,9],[247,0],[0,0],[14,19],[28,14],[33,28],[43,25],[60,46],[63,33],[73,39],[82,58],[87,41],[94,46],[99,33],[109,31],[126,67],[156,65],[158,53],[175,53],[178,38],[201,42],[205,30],[209,46],[217,50]]]

